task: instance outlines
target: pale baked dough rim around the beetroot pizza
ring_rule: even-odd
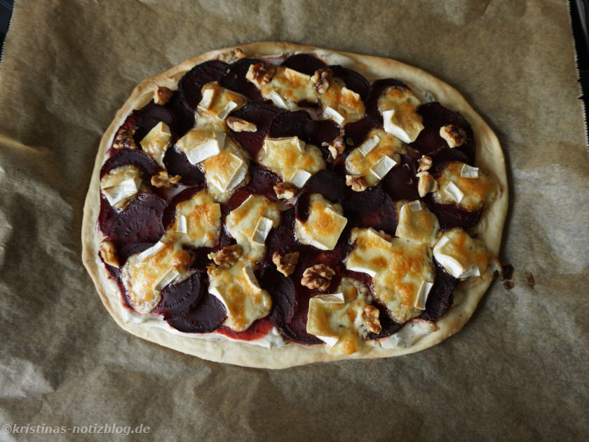
[[[100,168],[104,163],[104,156],[111,145],[116,130],[133,109],[140,109],[147,105],[153,98],[157,86],[166,86],[172,90],[177,89],[177,82],[195,65],[206,60],[214,60],[219,55],[229,54],[232,50],[240,48],[245,57],[264,57],[269,55],[294,54],[299,52],[314,53],[327,64],[342,65],[356,70],[372,82],[375,79],[395,78],[407,83],[419,93],[431,93],[435,100],[445,107],[460,112],[470,123],[475,133],[477,166],[492,170],[499,185],[501,193],[490,208],[483,213],[481,222],[486,223],[485,232],[479,234],[479,238],[485,241],[487,248],[495,255],[499,253],[501,246],[501,234],[503,222],[508,207],[506,166],[499,140],[487,123],[464,100],[462,95],[451,86],[427,74],[421,69],[405,65],[401,62],[386,58],[372,57],[370,55],[358,55],[354,53],[330,51],[313,46],[301,46],[293,43],[265,41],[251,43],[245,46],[224,48],[198,55],[176,67],[172,67],[162,74],[142,81],[131,93],[130,98],[116,112],[114,121],[102,136],[100,148],[95,161],[93,175],[90,180],[90,189],[86,196],[82,222],[82,259],[84,266],[90,273],[95,286],[100,294],[104,307],[107,308],[116,323],[124,330],[142,337],[156,344],[182,351],[186,354],[198,356],[210,361],[232,363],[239,366],[257,368],[287,368],[300,366],[307,363],[321,361],[338,361],[341,359],[383,358],[400,356],[413,353],[441,342],[446,337],[459,331],[473,314],[478,302],[485,294],[491,281],[478,279],[475,283],[462,282],[454,291],[454,305],[442,319],[435,323],[436,330],[418,337],[417,340],[408,342],[407,347],[399,349],[384,349],[374,347],[367,354],[339,355],[330,354],[327,345],[318,344],[305,346],[302,344],[285,344],[283,347],[260,347],[238,340],[227,340],[219,336],[219,339],[207,337],[185,336],[170,333],[163,328],[146,326],[141,323],[125,322],[121,313],[121,295],[118,286],[112,281],[104,264],[98,256],[100,242],[104,239],[97,229],[97,218],[100,212]]]

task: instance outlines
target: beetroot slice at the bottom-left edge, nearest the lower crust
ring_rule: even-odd
[[[201,284],[204,287],[205,284]],[[223,321],[227,313],[221,301],[210,293],[204,293],[201,300],[188,309],[183,316],[168,319],[168,324],[184,333],[212,333]]]

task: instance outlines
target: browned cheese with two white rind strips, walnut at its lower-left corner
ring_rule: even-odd
[[[382,129],[372,129],[366,141],[346,157],[346,170],[351,175],[360,175],[367,185],[374,186],[381,180],[379,175],[374,173],[374,166],[386,156],[398,163],[399,154],[406,153],[405,145],[398,138]]]

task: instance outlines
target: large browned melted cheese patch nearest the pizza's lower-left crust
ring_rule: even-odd
[[[161,290],[169,283],[187,279],[191,255],[175,234],[166,234],[151,249],[131,255],[121,269],[121,281],[129,301],[140,314],[151,312],[161,300]]]

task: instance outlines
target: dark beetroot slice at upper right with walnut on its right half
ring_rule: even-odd
[[[419,150],[424,155],[432,155],[438,150],[448,147],[446,140],[440,137],[440,128],[453,124],[466,132],[466,142],[460,147],[454,147],[466,155],[468,164],[475,160],[475,140],[470,123],[459,113],[440,105],[439,102],[426,103],[419,106],[417,112],[421,115],[424,130],[421,130],[417,140],[411,143],[411,147]]]

